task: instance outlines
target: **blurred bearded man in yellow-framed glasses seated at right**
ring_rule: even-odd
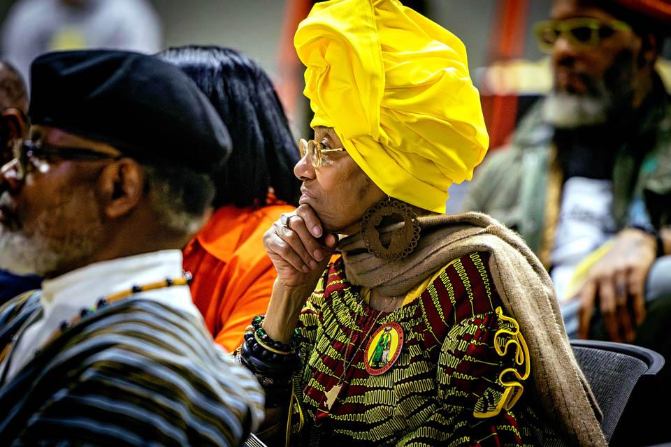
[[[671,99],[655,65],[671,1],[554,0],[549,19],[534,31],[554,87],[485,159],[466,207],[544,261],[569,335],[668,351]]]

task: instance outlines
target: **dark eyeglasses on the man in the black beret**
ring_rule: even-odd
[[[105,159],[118,160],[122,154],[101,152],[84,147],[60,147],[45,145],[41,141],[15,140],[12,150],[13,159],[5,163],[1,173],[15,167],[17,179],[23,180],[34,170],[47,173],[52,164],[62,160],[97,161]]]

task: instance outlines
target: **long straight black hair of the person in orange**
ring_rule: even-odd
[[[229,129],[233,153],[215,175],[214,205],[264,205],[268,189],[296,205],[300,182],[296,142],[272,82],[259,64],[216,46],[169,48],[158,54],[187,73]]]

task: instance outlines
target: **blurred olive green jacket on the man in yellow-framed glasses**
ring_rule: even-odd
[[[612,211],[619,229],[639,223],[634,216],[642,206],[657,228],[671,223],[671,98],[657,81],[640,109],[640,130],[622,143],[614,160]],[[541,109],[539,101],[522,119],[512,143],[486,156],[463,205],[516,230],[536,254],[554,163],[554,130],[543,122]]]

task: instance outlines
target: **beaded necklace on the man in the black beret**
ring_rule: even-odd
[[[117,302],[119,300],[122,300],[124,298],[128,298],[131,295],[135,295],[136,293],[140,292],[146,292],[146,291],[154,291],[159,288],[166,288],[166,287],[172,287],[172,286],[187,286],[191,283],[192,280],[192,274],[190,272],[183,272],[182,277],[180,278],[166,278],[163,281],[156,281],[152,282],[149,284],[143,284],[140,286],[132,286],[131,288],[125,290],[125,291],[120,291],[117,293],[113,293],[111,295],[103,296],[99,298],[98,302],[96,305],[92,307],[85,307],[81,309],[79,312],[79,315],[75,315],[73,318],[71,318],[69,321],[64,320],[59,326],[59,330],[55,331],[51,337],[47,339],[47,341],[43,344],[43,346],[48,346],[51,342],[53,342],[55,339],[57,339],[60,335],[62,335],[66,330],[70,329],[73,327],[73,325],[79,323],[82,318],[85,318],[86,316],[89,316],[93,314],[96,311],[99,311],[100,309],[103,309],[104,307],[107,307],[108,305],[112,304],[113,302]],[[31,321],[30,323],[32,323]],[[21,328],[18,332],[24,332],[24,330],[27,329],[27,325],[24,325],[23,328]],[[18,333],[13,335],[11,337],[10,342],[4,347],[2,352],[0,353],[0,362],[4,360],[4,358],[9,354],[10,349],[12,346],[17,342],[19,339]],[[35,350],[35,355],[40,353],[40,349]],[[11,360],[11,357],[8,358],[7,365],[5,365],[5,369],[3,372],[3,376],[9,369],[9,362]]]

